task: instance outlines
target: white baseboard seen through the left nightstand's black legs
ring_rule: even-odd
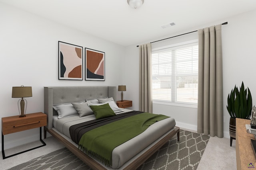
[[[40,138],[39,134],[35,134],[32,136],[23,137],[23,138],[12,140],[12,141],[7,141],[7,142],[5,141],[4,142],[4,150],[10,149],[13,147],[18,147],[20,145],[24,145],[24,144],[27,144],[30,142],[39,141],[39,138]],[[1,143],[1,146],[2,146],[2,143]],[[2,151],[2,147],[0,148],[0,151]]]

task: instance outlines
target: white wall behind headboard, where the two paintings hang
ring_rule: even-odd
[[[119,63],[123,61],[123,46],[2,3],[0,23],[0,117],[19,114],[18,98],[11,98],[12,86],[32,86],[33,96],[26,98],[26,113],[35,113],[44,112],[44,86],[118,86],[123,83],[118,71],[122,70]],[[58,80],[58,41],[105,52],[105,81]],[[117,99],[120,100],[119,95]],[[4,148],[30,140],[39,140],[39,128],[5,135]]]

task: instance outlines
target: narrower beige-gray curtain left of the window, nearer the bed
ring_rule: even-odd
[[[151,43],[140,45],[139,110],[152,113]]]

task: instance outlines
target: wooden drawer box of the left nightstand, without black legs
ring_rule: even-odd
[[[47,115],[44,113],[27,114],[26,117],[14,116],[12,119],[10,119],[10,121],[8,121],[8,118],[10,117],[6,117],[6,119],[2,118],[3,135],[47,125]]]

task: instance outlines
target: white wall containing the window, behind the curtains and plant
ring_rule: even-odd
[[[204,25],[198,25],[198,27],[184,29],[175,34],[170,34],[168,37],[180,35],[183,33],[202,29],[212,25],[217,25],[228,21],[228,25],[222,25],[222,52],[223,52],[223,110],[224,110],[224,137],[229,138],[229,118],[230,115],[226,109],[227,97],[231,89],[235,84],[241,86],[242,81],[244,85],[250,88],[252,93],[252,103],[256,105],[256,87],[255,84],[255,39],[256,39],[256,10],[232,16],[230,18],[224,18]],[[129,97],[131,100],[138,100],[138,47],[144,43],[157,41],[168,37],[159,37],[158,39],[151,39],[147,42],[141,42],[138,44],[126,47],[126,62],[133,64],[127,64],[125,77],[129,78],[124,80],[126,84],[129,84],[130,91]],[[197,37],[196,33],[182,35],[172,39],[160,41],[158,43],[152,43],[152,48],[159,47],[164,43],[178,43],[184,40],[190,40]],[[165,44],[165,45],[166,45]],[[129,90],[129,89],[128,89]],[[138,109],[138,104],[134,104],[134,109]],[[197,109],[188,107],[177,107],[153,104],[154,113],[166,113],[175,118],[177,125],[183,128],[197,130]]]

